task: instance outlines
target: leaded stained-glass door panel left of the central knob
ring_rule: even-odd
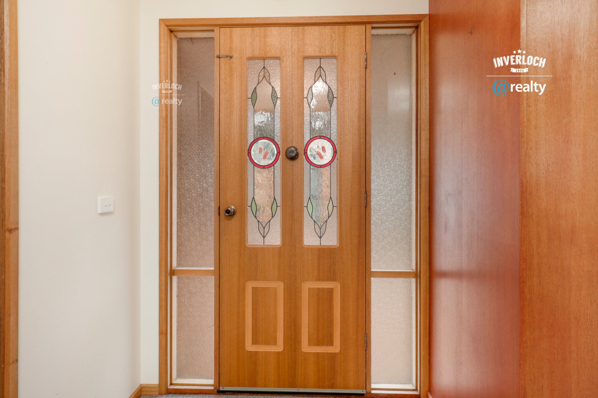
[[[280,244],[280,60],[247,61],[247,243]]]

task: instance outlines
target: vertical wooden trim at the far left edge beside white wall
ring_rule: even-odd
[[[17,398],[19,322],[19,86],[17,0],[0,1],[0,397]]]

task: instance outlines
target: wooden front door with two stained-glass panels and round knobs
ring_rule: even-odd
[[[365,392],[365,26],[219,32],[219,387]]]

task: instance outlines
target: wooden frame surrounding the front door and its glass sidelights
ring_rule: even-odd
[[[429,185],[429,121],[428,121],[428,93],[429,93],[429,74],[428,74],[428,14],[400,14],[400,15],[378,15],[378,16],[329,16],[329,17],[258,17],[258,18],[205,18],[205,19],[160,19],[158,21],[159,32],[159,80],[172,81],[173,40],[178,36],[187,34],[187,32],[211,30],[214,31],[215,54],[219,53],[218,29],[220,27],[240,27],[240,26],[292,26],[292,25],[366,25],[366,50],[371,53],[371,26],[382,24],[402,25],[416,27],[416,268],[414,271],[416,278],[416,367],[419,377],[416,380],[416,388],[420,391],[420,396],[426,397],[429,384],[429,365],[428,365],[428,290],[429,290],[429,232],[428,232],[428,185]],[[371,68],[366,69],[366,136],[367,149],[370,151],[371,136]],[[214,103],[215,115],[219,115],[219,60],[215,60],[214,68]],[[171,99],[172,94],[164,94],[165,99]],[[172,181],[172,128],[173,128],[173,107],[160,103],[159,116],[159,240],[158,240],[158,394],[178,393],[178,394],[206,394],[216,393],[218,388],[218,207],[219,192],[214,189],[214,211],[215,211],[215,239],[214,239],[214,270],[209,275],[214,276],[214,382],[212,389],[206,389],[206,386],[182,387],[180,385],[170,385],[170,330],[172,327],[172,308],[170,308],[170,292],[172,289],[172,276],[182,275],[185,270],[179,272],[170,272],[172,264],[172,201],[171,181]],[[219,118],[214,118],[214,145],[219,145]],[[368,152],[367,160],[367,191],[370,191],[370,159]],[[218,151],[215,155],[215,185],[219,185],[218,170]],[[370,298],[371,298],[371,265],[370,265],[370,206],[367,206],[367,256],[366,256],[366,330],[370,334]],[[207,274],[206,274],[207,275]],[[170,347],[172,348],[172,347]],[[371,350],[366,351],[366,384],[368,396],[381,396],[385,398],[393,397],[413,397],[413,393],[405,394],[378,394],[371,393]]]

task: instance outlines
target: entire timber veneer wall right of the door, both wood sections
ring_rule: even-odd
[[[596,396],[598,4],[430,14],[431,394]],[[518,48],[547,59],[521,78],[542,96],[492,93],[492,59]]]

